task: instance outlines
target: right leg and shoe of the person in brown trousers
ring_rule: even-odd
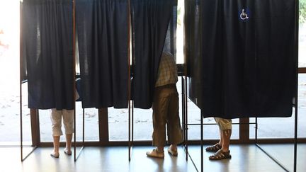
[[[169,110],[167,115],[168,142],[170,145],[168,152],[177,156],[177,144],[183,142],[183,131],[181,129],[181,120],[179,117],[179,93],[176,87],[170,88]]]

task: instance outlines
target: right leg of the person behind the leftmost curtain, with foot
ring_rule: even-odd
[[[66,134],[66,147],[64,153],[71,155],[72,134],[74,132],[74,110],[63,110],[64,129]]]

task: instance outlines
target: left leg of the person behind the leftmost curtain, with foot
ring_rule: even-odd
[[[51,156],[58,158],[60,156],[60,136],[62,135],[62,110],[51,110],[52,135],[53,135],[53,153]]]

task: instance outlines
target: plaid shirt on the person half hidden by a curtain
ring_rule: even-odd
[[[173,55],[163,52],[159,62],[159,70],[155,87],[176,84],[178,81],[176,62]]]

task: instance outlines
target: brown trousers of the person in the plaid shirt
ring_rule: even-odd
[[[153,99],[153,146],[164,147],[166,127],[169,144],[183,142],[179,119],[179,93],[175,84],[155,88]]]

